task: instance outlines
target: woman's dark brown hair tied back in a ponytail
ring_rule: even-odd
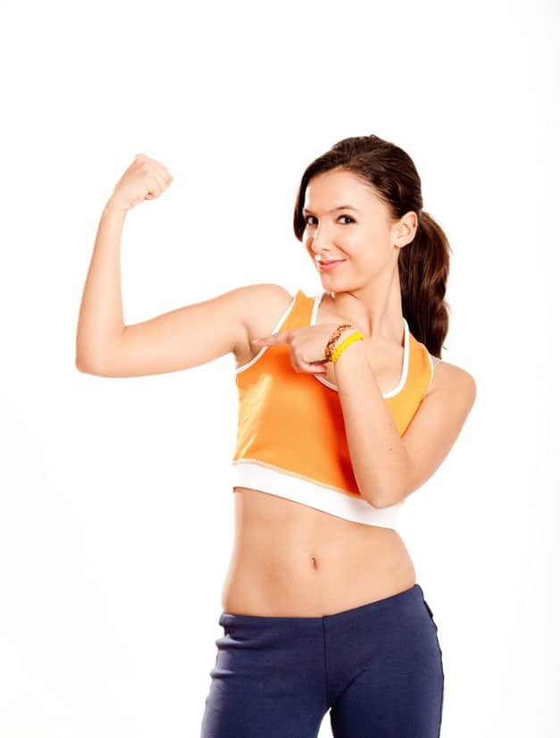
[[[398,220],[411,210],[418,216],[414,239],[398,255],[402,311],[414,338],[432,356],[441,358],[449,323],[449,305],[444,298],[453,251],[439,223],[422,209],[422,182],[413,160],[402,148],[377,136],[343,138],[303,174],[294,209],[294,232],[299,241],[305,231],[302,208],[307,184],[315,174],[332,169],[354,172],[365,180],[389,207],[391,218]]]

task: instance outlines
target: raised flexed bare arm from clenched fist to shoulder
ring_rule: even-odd
[[[79,309],[76,367],[105,377],[177,372],[247,345],[251,316],[278,285],[255,284],[124,325],[121,236],[128,210],[159,197],[171,182],[166,167],[138,155],[104,207]]]

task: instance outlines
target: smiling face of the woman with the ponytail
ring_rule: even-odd
[[[329,289],[338,291],[340,280],[369,281],[394,268],[403,245],[402,226],[390,221],[387,205],[354,173],[316,174],[305,189],[303,216],[303,244],[325,286],[332,285]],[[317,259],[342,262],[323,271]]]

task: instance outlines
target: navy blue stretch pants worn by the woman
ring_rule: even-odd
[[[444,673],[420,584],[319,617],[222,612],[201,738],[439,738]]]

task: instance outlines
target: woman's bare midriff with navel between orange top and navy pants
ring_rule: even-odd
[[[221,606],[236,615],[316,617],[412,587],[392,528],[354,523],[267,492],[234,488],[235,539]]]

